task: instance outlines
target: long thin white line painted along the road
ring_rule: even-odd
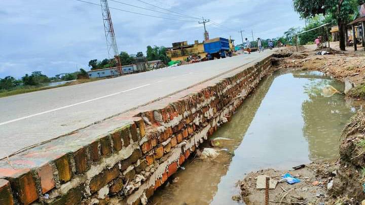
[[[121,92],[118,92],[118,93],[113,93],[113,94],[101,96],[101,97],[98,97],[98,98],[86,100],[86,101],[83,101],[83,102],[78,102],[78,103],[75,103],[75,104],[66,105],[66,106],[63,106],[63,107],[56,108],[56,109],[47,110],[47,111],[44,111],[44,112],[39,112],[39,113],[31,114],[31,115],[28,115],[28,116],[24,116],[24,117],[19,117],[19,118],[16,118],[16,119],[12,119],[12,120],[9,120],[9,121],[5,121],[5,122],[0,122],[0,126],[9,124],[11,122],[19,121],[19,120],[22,120],[22,119],[27,119],[27,118],[34,117],[34,116],[38,116],[38,115],[42,115],[42,114],[47,114],[47,113],[54,112],[54,111],[57,111],[57,110],[61,110],[61,109],[73,107],[73,106],[76,106],[76,105],[81,105],[81,104],[88,103],[88,102],[92,102],[92,101],[95,101],[95,100],[100,100],[100,99],[103,99],[103,98],[115,96],[115,95],[118,95],[118,94],[121,94],[121,93],[126,93],[126,92],[129,92],[129,91],[137,90],[137,89],[140,89],[140,88],[143,88],[143,87],[146,87],[146,86],[151,86],[151,84],[146,84],[146,85],[143,85],[143,86],[138,86],[138,87],[131,88],[131,89],[128,89],[128,90],[125,90],[125,91],[121,91]]]

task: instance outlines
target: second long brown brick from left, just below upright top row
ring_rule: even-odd
[[[118,166],[113,167],[112,169],[104,170],[104,172],[96,175],[90,181],[90,192],[95,193],[104,187],[107,183],[111,182],[115,178],[119,176],[119,168]]]

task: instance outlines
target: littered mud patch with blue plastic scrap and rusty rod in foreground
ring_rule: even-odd
[[[236,183],[240,194],[232,199],[246,204],[265,204],[268,196],[268,204],[324,204],[332,200],[328,191],[333,188],[337,168],[334,163],[311,163],[289,171],[268,169],[251,172]]]

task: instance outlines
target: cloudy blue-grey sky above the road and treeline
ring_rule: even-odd
[[[100,4],[99,0],[84,1]],[[232,36],[236,44],[242,43],[241,29],[244,38],[252,39],[253,30],[255,39],[266,39],[281,36],[290,27],[304,26],[291,0],[143,0],[190,18],[139,0],[118,2],[170,14],[111,0],[109,7],[179,20],[111,9],[118,50],[129,54],[145,53],[148,45],[171,47],[171,43],[185,40],[202,42],[204,28],[196,19],[201,17],[213,22],[206,25],[210,38]],[[0,78],[20,78],[35,70],[48,76],[80,68],[89,70],[91,59],[107,58],[100,6],[76,0],[0,1],[0,19]]]

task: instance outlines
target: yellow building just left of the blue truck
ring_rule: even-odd
[[[204,43],[199,43],[198,40],[195,40],[195,43],[190,45],[188,45],[187,41],[172,43],[172,47],[167,48],[166,55],[172,61],[182,61],[192,55],[204,58],[206,53],[204,52]]]

